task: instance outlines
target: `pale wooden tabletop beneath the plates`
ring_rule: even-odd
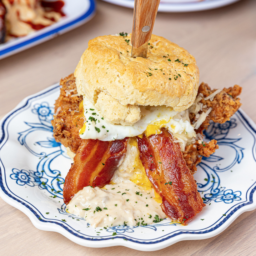
[[[24,97],[74,72],[90,39],[131,32],[132,9],[97,2],[87,24],[41,45],[0,60],[0,116]],[[197,60],[200,81],[211,87],[243,87],[242,109],[256,122],[256,1],[242,0],[216,10],[158,13],[154,34],[187,49]],[[155,252],[125,247],[87,248],[36,229],[21,211],[0,199],[0,255],[256,255],[256,211],[240,215],[224,232],[205,240],[182,241]]]

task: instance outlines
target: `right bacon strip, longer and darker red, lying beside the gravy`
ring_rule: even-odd
[[[162,197],[162,210],[171,219],[182,224],[195,217],[205,206],[193,175],[183,158],[179,143],[172,135],[162,133],[141,138],[137,137],[140,159],[147,177]]]

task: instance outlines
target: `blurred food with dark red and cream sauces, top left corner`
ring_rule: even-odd
[[[0,43],[50,26],[65,14],[63,1],[0,0]]]

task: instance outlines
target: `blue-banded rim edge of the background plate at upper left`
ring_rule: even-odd
[[[48,41],[52,38],[54,38],[56,35],[62,35],[72,29],[75,29],[76,27],[81,26],[82,24],[86,23],[87,21],[91,20],[95,13],[96,13],[96,1],[95,0],[87,0],[89,2],[89,8],[88,10],[83,13],[82,15],[80,15],[79,17],[76,17],[73,20],[70,20],[67,23],[64,23],[60,26],[57,26],[55,28],[50,29],[49,31],[46,31],[42,34],[37,35],[37,31],[35,31],[32,34],[29,34],[27,36],[33,35],[31,38],[28,38],[25,41],[22,42],[17,42],[14,45],[11,45],[9,47],[4,47],[2,50],[0,50],[0,60],[4,59],[8,56],[14,55],[18,52],[24,51],[26,49],[29,49],[30,47],[36,46],[41,44],[42,42]],[[58,22],[52,24],[55,25],[58,24]],[[50,28],[52,25],[50,25],[49,27],[46,28]],[[39,32],[41,32],[42,30],[38,30]],[[21,37],[21,38],[26,38],[27,36]]]

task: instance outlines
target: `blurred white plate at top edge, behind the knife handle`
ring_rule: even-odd
[[[102,0],[111,4],[134,8],[134,0]],[[161,0],[158,11],[190,12],[219,8],[240,0]]]

